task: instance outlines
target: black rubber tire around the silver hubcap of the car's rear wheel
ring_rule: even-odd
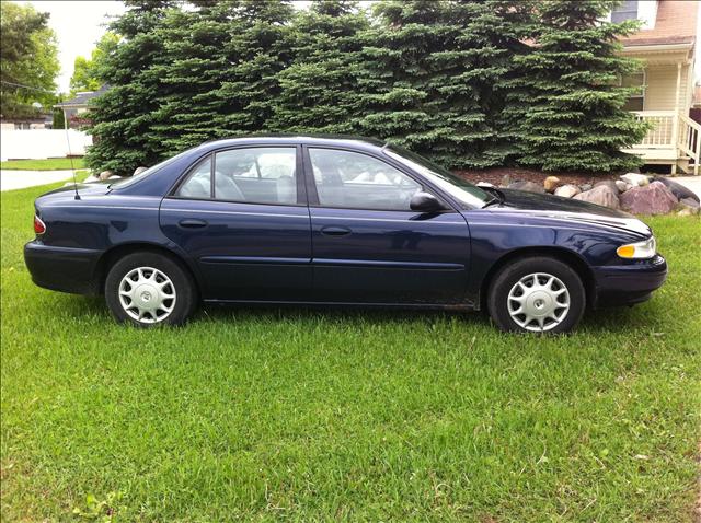
[[[174,294],[174,298],[163,301],[164,304],[171,307],[170,312],[158,311],[156,317],[154,315],[146,317],[149,316],[149,314],[146,314],[145,318],[139,321],[133,317],[130,313],[127,312],[127,309],[123,306],[119,286],[127,275],[133,274],[138,268],[156,269],[170,279],[172,287],[168,287],[168,292]],[[143,274],[152,276],[152,272],[148,270],[143,271]],[[160,275],[158,277],[160,278]],[[161,282],[163,280],[161,280]],[[142,294],[150,295],[149,292]],[[181,325],[185,323],[197,309],[198,294],[189,274],[179,262],[162,254],[145,252],[126,255],[112,266],[105,281],[105,301],[112,315],[118,323],[130,323],[138,327],[154,327],[158,325]],[[130,311],[133,314],[138,314],[138,309],[130,309]],[[158,319],[159,313],[164,315],[162,319]]]

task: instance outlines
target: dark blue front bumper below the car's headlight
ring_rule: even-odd
[[[667,279],[667,262],[660,255],[630,265],[595,267],[594,307],[633,305],[648,300]]]

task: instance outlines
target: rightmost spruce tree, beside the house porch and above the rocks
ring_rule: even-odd
[[[610,172],[641,164],[621,148],[639,142],[646,126],[623,109],[631,90],[620,79],[637,62],[620,56],[617,37],[634,22],[604,21],[617,2],[545,0],[537,3],[530,53],[516,55],[514,85],[521,112],[510,106],[522,146],[518,163],[547,171]]]

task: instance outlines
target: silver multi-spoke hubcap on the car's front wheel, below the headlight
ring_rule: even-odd
[[[547,272],[524,276],[508,293],[508,313],[526,330],[550,330],[570,312],[570,291]]]

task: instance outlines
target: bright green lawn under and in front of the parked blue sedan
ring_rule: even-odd
[[[2,194],[4,521],[693,520],[699,219],[650,219],[667,284],[571,336],[295,307],[137,330],[30,281],[45,189]]]

